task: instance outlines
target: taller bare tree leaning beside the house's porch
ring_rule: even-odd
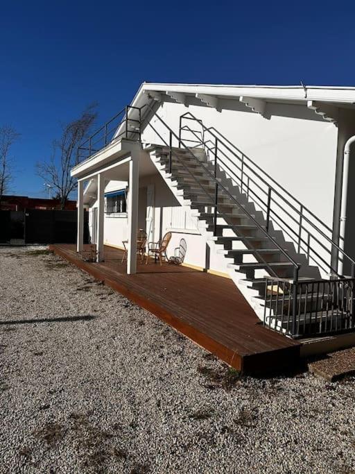
[[[62,126],[62,136],[53,141],[53,154],[47,162],[37,163],[37,174],[51,185],[64,209],[69,194],[76,189],[76,179],[70,170],[76,162],[76,149],[87,137],[97,117],[96,104],[89,105],[82,115]]]

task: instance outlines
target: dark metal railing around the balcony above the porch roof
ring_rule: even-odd
[[[132,117],[134,115],[134,117]],[[121,131],[120,131],[121,130]],[[85,140],[76,153],[76,164],[87,160],[121,138],[141,139],[141,108],[126,105]]]

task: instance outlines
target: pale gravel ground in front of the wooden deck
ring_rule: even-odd
[[[0,268],[0,473],[355,472],[355,378],[240,378],[46,251]]]

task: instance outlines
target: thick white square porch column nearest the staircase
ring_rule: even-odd
[[[138,226],[138,186],[139,154],[132,153],[128,193],[128,256],[127,273],[137,273],[137,226]]]

